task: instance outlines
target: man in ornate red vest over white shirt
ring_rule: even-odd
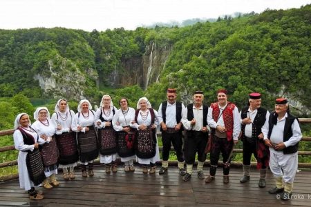
[[[227,90],[217,92],[218,102],[211,103],[207,115],[207,122],[211,130],[211,168],[205,183],[215,179],[216,168],[220,152],[223,155],[223,183],[229,183],[230,154],[234,144],[238,143],[241,132],[240,114],[234,103],[227,101]]]

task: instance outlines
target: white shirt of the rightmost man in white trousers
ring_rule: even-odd
[[[285,119],[287,117],[288,117],[288,113],[286,113],[282,119],[280,120],[278,119],[278,121],[276,122],[276,125],[273,126],[272,132],[270,135],[270,141],[272,142],[272,144],[280,144],[283,142]],[[292,137],[290,137],[288,141],[284,142],[286,147],[294,146],[302,138],[299,123],[296,119],[292,123],[291,128],[292,128]],[[269,132],[269,119],[265,120],[265,124],[263,125],[263,128],[261,128],[261,130],[263,131],[263,139],[268,139],[267,135]],[[270,152],[273,152],[274,154],[283,155],[283,150],[276,151],[274,150],[274,148],[270,148]]]

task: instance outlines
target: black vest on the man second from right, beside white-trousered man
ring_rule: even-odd
[[[243,108],[241,111],[241,119],[247,118],[247,112],[248,112],[248,106]],[[257,108],[257,114],[254,118],[253,124],[252,124],[252,138],[258,139],[258,135],[261,134],[261,128],[263,127],[263,124],[265,124],[265,115],[267,115],[267,110],[265,108]],[[242,141],[245,139],[245,124],[242,124]]]

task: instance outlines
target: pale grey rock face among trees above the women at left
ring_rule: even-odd
[[[39,86],[44,90],[45,97],[55,99],[66,97],[66,99],[84,99],[86,86],[86,75],[75,66],[75,64],[60,56],[48,61],[48,71],[36,74],[34,79],[39,80]],[[88,77],[97,79],[97,72],[87,69]]]

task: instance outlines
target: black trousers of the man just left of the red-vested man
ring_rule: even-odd
[[[194,164],[196,152],[198,152],[198,161],[205,161],[205,148],[207,145],[208,133],[189,130],[185,137],[185,162]]]

